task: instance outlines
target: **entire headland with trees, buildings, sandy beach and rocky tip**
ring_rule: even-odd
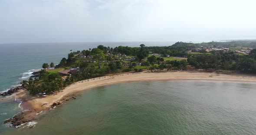
[[[243,44],[247,50],[242,53]],[[79,91],[109,84],[158,80],[256,83],[256,50],[252,48],[247,42],[177,42],[169,47],[99,45],[71,52],[58,65],[51,63],[54,69],[45,63],[42,71],[21,83],[23,89],[13,95],[23,100],[23,111],[4,123],[18,126],[33,121],[46,110],[76,99]]]

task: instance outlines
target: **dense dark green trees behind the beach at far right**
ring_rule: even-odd
[[[254,50],[254,49],[253,49]],[[254,51],[248,55],[237,55],[234,52],[215,53],[212,55],[193,55],[187,59],[188,63],[197,69],[222,69],[241,71],[246,73],[256,72],[256,59]]]

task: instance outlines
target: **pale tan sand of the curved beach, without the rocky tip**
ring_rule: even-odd
[[[99,78],[99,77],[97,77]],[[93,87],[115,84],[121,82],[139,82],[139,81],[156,81],[156,80],[213,80],[213,81],[232,81],[232,82],[243,82],[243,83],[256,83],[256,77],[250,76],[248,74],[216,74],[216,73],[207,73],[207,72],[161,72],[161,73],[134,73],[134,74],[123,74],[123,75],[112,75],[100,77],[100,79],[89,79],[83,80],[75,84],[72,84],[70,87],[66,87],[63,92],[59,92],[57,95],[42,97],[32,97],[28,96],[27,92],[21,90],[16,93],[17,96],[20,96],[25,102],[23,106],[25,108],[36,109],[41,111],[42,109],[48,109],[54,102],[61,100],[64,96],[69,93],[88,90]],[[48,103],[45,106],[43,104]],[[31,105],[28,107],[28,105]]]

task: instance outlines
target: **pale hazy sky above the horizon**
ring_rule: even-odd
[[[0,44],[256,39],[255,0],[0,0]]]

